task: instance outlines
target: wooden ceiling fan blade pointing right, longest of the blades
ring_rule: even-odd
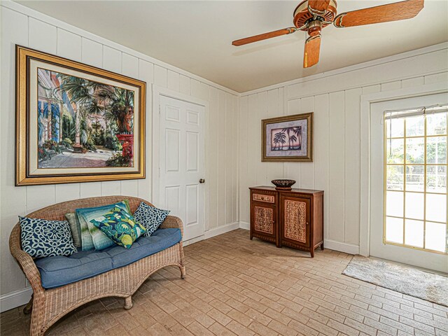
[[[387,5],[353,10],[337,15],[333,24],[336,27],[371,25],[414,18],[423,9],[424,0],[407,0]]]

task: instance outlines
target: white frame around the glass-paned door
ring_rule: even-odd
[[[448,83],[440,82],[434,84],[420,85],[417,87],[406,87],[399,90],[375,92],[362,95],[360,101],[360,228],[359,228],[359,254],[368,257],[370,255],[370,118],[371,105],[391,100],[426,96],[428,94],[448,92]]]

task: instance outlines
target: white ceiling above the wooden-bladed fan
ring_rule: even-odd
[[[302,69],[304,33],[235,47],[292,26],[300,1],[17,1],[238,92],[448,41],[448,1],[410,20],[323,29],[321,59]],[[338,12],[393,0],[338,1]]]

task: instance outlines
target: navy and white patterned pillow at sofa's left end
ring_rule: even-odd
[[[20,217],[22,250],[34,258],[72,255],[76,252],[67,221]]]

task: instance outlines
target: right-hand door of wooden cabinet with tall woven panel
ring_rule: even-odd
[[[281,197],[281,240],[309,247],[308,198]]]

